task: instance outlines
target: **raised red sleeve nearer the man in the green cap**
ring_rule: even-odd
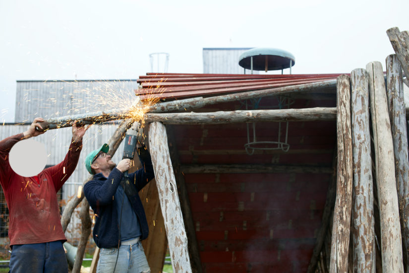
[[[77,166],[79,155],[82,149],[82,140],[78,142],[73,142],[71,139],[71,144],[69,145],[68,152],[65,155],[64,160],[59,164],[47,168],[44,172],[47,172],[53,178],[54,187],[56,192],[61,189],[62,185],[67,181],[67,179],[74,172]]]

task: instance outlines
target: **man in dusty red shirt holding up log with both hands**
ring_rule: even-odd
[[[8,155],[19,140],[44,134],[35,118],[21,134],[0,141],[0,184],[9,209],[11,273],[68,272],[62,243],[66,241],[60,223],[57,192],[74,171],[88,129],[72,126],[72,139],[64,160],[37,176],[23,177],[10,167]]]

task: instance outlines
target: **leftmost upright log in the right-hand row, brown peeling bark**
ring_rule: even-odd
[[[337,79],[337,197],[332,229],[330,273],[348,272],[352,196],[351,84]]]

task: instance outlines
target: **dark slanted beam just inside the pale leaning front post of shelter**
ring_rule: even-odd
[[[187,243],[188,243],[190,261],[192,262],[192,265],[191,265],[192,272],[202,273],[203,270],[202,270],[202,264],[200,261],[200,251],[199,251],[199,246],[197,244],[196,230],[195,230],[195,226],[193,223],[192,211],[190,209],[189,194],[188,194],[187,186],[184,180],[184,176],[182,174],[182,171],[180,170],[180,162],[179,162],[179,156],[178,156],[176,144],[175,144],[174,130],[173,128],[169,128],[169,127],[167,127],[166,129],[167,129],[167,135],[169,137],[169,142],[170,142],[169,151],[170,151],[171,159],[173,163],[172,165],[174,167],[177,190],[181,197],[180,205],[181,205],[184,225],[186,227],[186,236],[187,238],[189,238]]]

